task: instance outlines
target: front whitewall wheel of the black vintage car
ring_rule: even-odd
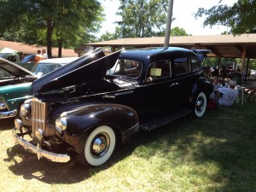
[[[116,137],[113,129],[107,125],[97,127],[87,137],[84,151],[78,155],[84,166],[101,166],[113,154]]]

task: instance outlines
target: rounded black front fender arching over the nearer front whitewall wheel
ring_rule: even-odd
[[[109,125],[125,142],[133,129],[137,131],[138,117],[134,109],[119,104],[93,104],[75,108],[66,112],[67,130],[64,139],[76,152],[84,148],[84,142],[90,131],[99,125]]]

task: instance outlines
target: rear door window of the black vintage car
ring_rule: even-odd
[[[188,57],[175,58],[173,65],[174,65],[174,73],[177,75],[190,72]]]

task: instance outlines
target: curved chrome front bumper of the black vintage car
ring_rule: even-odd
[[[29,143],[28,141],[26,141],[25,139],[17,135],[16,128],[14,128],[12,132],[13,132],[13,137],[15,139],[15,143],[19,143],[26,150],[29,150],[33,154],[37,154],[38,160],[40,160],[41,157],[44,157],[45,159],[53,162],[60,162],[60,163],[66,163],[67,161],[70,160],[70,156],[68,154],[52,153],[42,149],[39,143],[37,146],[33,145],[32,143]]]

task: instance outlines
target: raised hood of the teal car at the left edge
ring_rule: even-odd
[[[5,71],[11,73],[14,75],[16,78],[22,78],[26,76],[35,76],[36,75],[28,70],[26,68],[20,67],[19,65],[5,60],[0,57],[0,68],[3,68]]]

